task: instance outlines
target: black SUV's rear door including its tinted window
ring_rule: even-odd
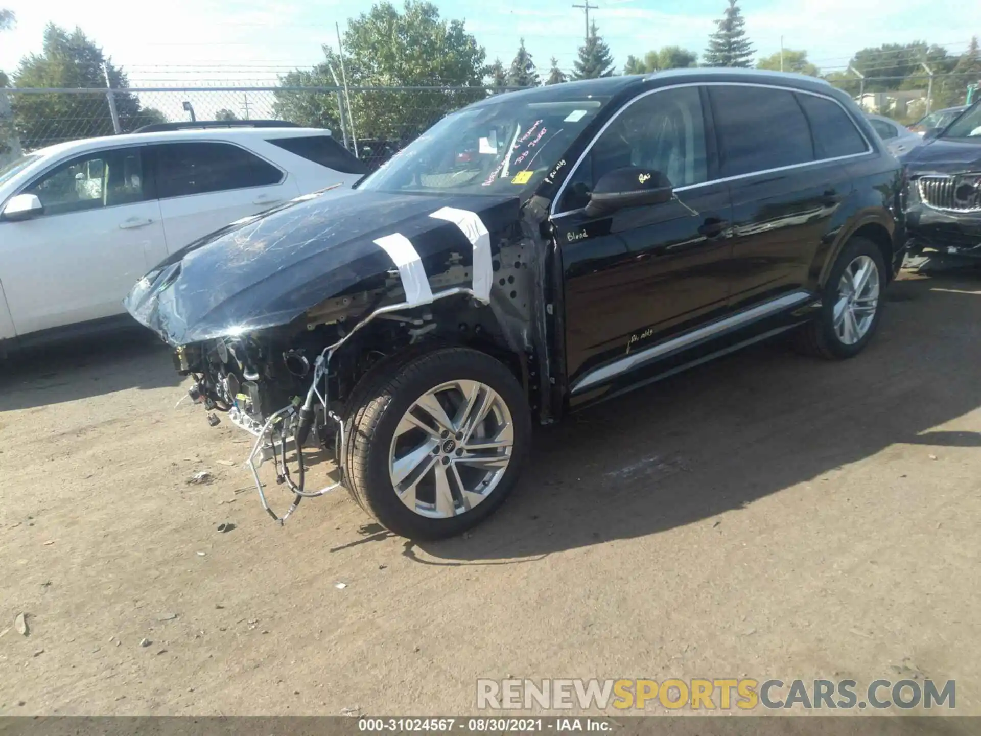
[[[805,289],[815,255],[852,191],[845,159],[868,143],[821,95],[758,84],[709,87],[733,206],[731,304]]]

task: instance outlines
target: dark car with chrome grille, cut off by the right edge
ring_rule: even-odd
[[[981,258],[981,137],[948,138],[942,131],[903,163],[911,250]]]

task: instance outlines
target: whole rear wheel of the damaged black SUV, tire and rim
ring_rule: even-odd
[[[800,347],[829,359],[857,355],[879,324],[885,286],[879,247],[864,237],[852,237],[831,269],[817,317],[800,330]]]

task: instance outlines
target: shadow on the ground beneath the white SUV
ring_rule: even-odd
[[[167,345],[146,330],[123,330],[15,353],[0,364],[0,411],[180,383]]]

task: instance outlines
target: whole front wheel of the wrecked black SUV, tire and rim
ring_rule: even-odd
[[[502,363],[451,347],[366,380],[349,409],[343,458],[366,511],[395,534],[439,539],[504,501],[528,454],[531,418]]]

